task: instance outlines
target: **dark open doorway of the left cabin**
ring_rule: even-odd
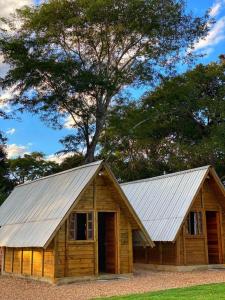
[[[116,215],[98,213],[98,271],[116,273]]]

